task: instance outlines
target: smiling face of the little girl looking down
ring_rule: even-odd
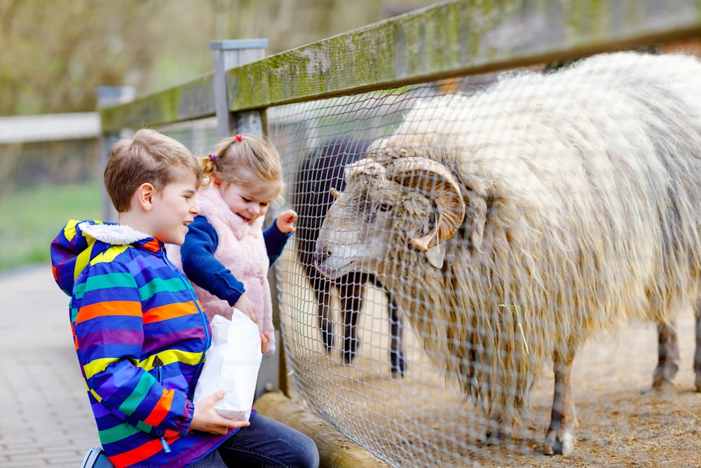
[[[280,184],[275,182],[261,182],[256,178],[245,178],[250,182],[243,184],[236,182],[222,182],[213,180],[214,186],[219,189],[222,199],[231,213],[247,223],[252,223],[268,211],[268,206],[278,197]]]

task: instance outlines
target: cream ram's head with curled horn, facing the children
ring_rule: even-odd
[[[346,168],[346,190],[334,196],[315,250],[318,269],[330,278],[362,271],[395,281],[392,258],[407,249],[440,268],[444,241],[465,215],[450,171],[418,157],[362,159]]]

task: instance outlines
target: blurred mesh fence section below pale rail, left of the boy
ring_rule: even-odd
[[[0,272],[48,258],[65,216],[99,214],[97,138],[0,145]]]

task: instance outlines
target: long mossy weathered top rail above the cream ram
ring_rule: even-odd
[[[701,34],[697,0],[451,0],[231,69],[236,112]]]

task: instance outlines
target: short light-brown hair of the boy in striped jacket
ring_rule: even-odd
[[[142,128],[132,139],[119,140],[112,147],[104,168],[104,187],[118,213],[130,210],[134,192],[144,182],[162,190],[185,171],[200,185],[201,166],[182,143],[149,128]]]

